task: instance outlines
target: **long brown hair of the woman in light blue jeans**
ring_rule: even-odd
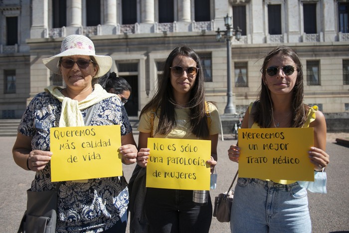
[[[270,90],[267,85],[264,84],[266,77],[266,68],[270,59],[277,55],[282,54],[290,57],[296,64],[297,79],[296,84],[292,92],[292,118],[291,127],[302,127],[306,121],[306,105],[303,103],[304,85],[303,85],[303,66],[297,55],[297,53],[290,47],[278,46],[271,49],[264,58],[263,66],[261,68],[262,79],[259,92],[259,104],[257,105],[257,111],[253,115],[254,122],[262,128],[268,128],[272,125],[273,119],[273,100],[270,97]],[[308,110],[309,107],[307,107]]]

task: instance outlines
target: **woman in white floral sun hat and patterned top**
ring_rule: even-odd
[[[61,52],[43,59],[43,63],[62,75],[66,88],[49,86],[37,94],[19,124],[12,154],[18,166],[36,172],[31,191],[54,190],[57,185],[51,182],[50,128],[84,126],[93,105],[90,125],[120,125],[122,162],[135,163],[136,143],[120,98],[99,84],[92,86],[93,78],[109,71],[112,58],[96,55],[93,42],[86,36],[69,35],[62,41]],[[56,232],[125,232],[128,203],[123,176],[62,182]]]

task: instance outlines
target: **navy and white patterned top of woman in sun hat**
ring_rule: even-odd
[[[37,94],[27,106],[18,132],[32,137],[32,150],[50,150],[50,128],[58,127],[62,103],[51,94]],[[82,110],[85,118],[88,109]],[[120,125],[121,135],[132,132],[126,110],[118,97],[110,97],[96,104],[90,125]],[[50,163],[36,172],[32,191],[53,190]],[[129,192],[122,177],[89,179],[87,183],[62,182],[59,189],[56,232],[102,232],[121,219],[127,221]]]

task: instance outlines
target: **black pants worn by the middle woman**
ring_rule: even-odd
[[[211,225],[210,196],[207,205],[195,205],[192,190],[148,188],[144,208],[150,233],[208,233]]]

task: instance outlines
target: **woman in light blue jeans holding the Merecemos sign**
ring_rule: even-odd
[[[326,121],[317,106],[303,103],[303,70],[298,55],[290,47],[275,47],[267,53],[261,73],[259,99],[250,104],[241,128],[314,128],[309,159],[315,171],[323,171],[329,163]],[[242,155],[237,145],[230,146],[231,161],[239,162]],[[307,190],[297,181],[239,178],[230,216],[232,233],[312,231]]]

